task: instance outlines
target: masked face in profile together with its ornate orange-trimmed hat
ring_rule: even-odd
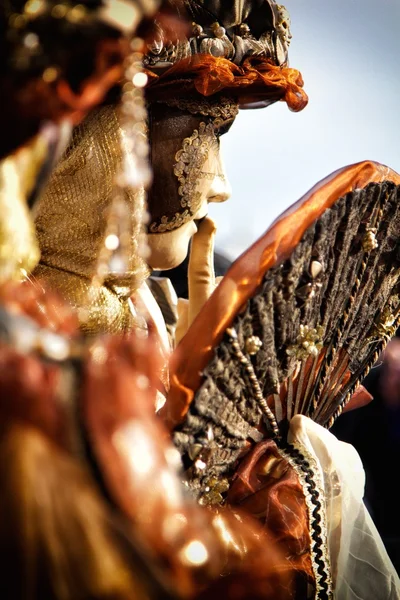
[[[299,73],[287,68],[291,34],[283,6],[272,0],[240,6],[184,0],[174,11],[192,21],[191,31],[167,37],[156,23],[144,60],[154,174],[150,262],[163,269],[185,258],[193,221],[205,216],[208,202],[230,195],[219,137],[239,106],[285,100],[301,110],[307,102]]]

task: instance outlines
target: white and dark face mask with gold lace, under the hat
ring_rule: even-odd
[[[192,114],[191,110],[202,110],[203,114]],[[154,268],[182,262],[196,232],[195,222],[207,214],[208,203],[230,197],[219,137],[229,129],[237,111],[237,104],[228,99],[219,105],[203,100],[181,102],[179,107],[151,107],[154,181],[148,196],[148,242]]]

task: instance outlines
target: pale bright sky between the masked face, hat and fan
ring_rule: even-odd
[[[286,0],[309,95],[241,111],[221,139],[232,198],[210,206],[232,258],[317,181],[365,159],[400,172],[400,0]]]

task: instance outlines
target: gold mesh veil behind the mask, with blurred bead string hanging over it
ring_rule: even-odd
[[[141,58],[134,49],[121,106],[94,111],[74,130],[36,210],[41,261],[35,275],[78,309],[86,333],[137,325],[129,298],[148,275],[142,257],[150,170]]]

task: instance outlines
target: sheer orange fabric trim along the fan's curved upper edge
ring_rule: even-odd
[[[174,428],[186,414],[201,382],[201,372],[227,327],[261,284],[265,272],[288,258],[307,228],[339,198],[369,183],[400,176],[379,163],[365,161],[336,171],[289,208],[271,228],[232,265],[199,312],[172,356],[167,402],[160,411]],[[190,357],[190,360],[188,360]]]

